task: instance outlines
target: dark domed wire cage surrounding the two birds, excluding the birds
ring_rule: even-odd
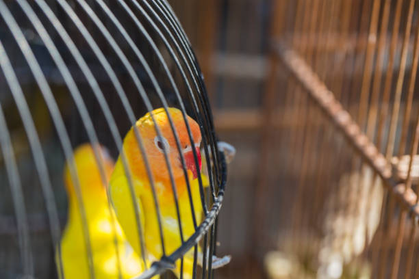
[[[133,181],[128,177],[134,167],[127,162],[124,152],[120,153],[123,138],[130,127],[135,127],[138,118],[163,107],[175,138],[170,152],[179,154],[182,175],[188,185],[192,219],[194,208],[201,207],[204,216],[199,218],[200,223],[194,224],[192,234],[182,234],[176,206],[181,245],[165,252],[162,230],[167,224],[157,214],[162,256],[150,259],[142,250],[138,256],[145,271],[138,276],[151,278],[180,261],[182,278],[183,256],[192,250],[192,277],[212,278],[216,220],[226,181],[225,155],[218,149],[199,64],[170,5],[160,0],[0,1],[0,27],[0,277],[64,278],[62,265],[66,261],[60,261],[60,238],[67,220],[64,163],[69,167],[80,203],[73,150],[84,142],[92,144],[102,183],[107,185],[98,145],[101,144],[109,150],[110,157],[116,159],[121,154],[133,195]],[[192,186],[188,183],[184,146],[180,146],[169,107],[181,111],[188,146],[195,146],[197,139],[192,137],[187,116],[199,125],[202,142],[201,150],[192,148],[194,168],[200,172],[202,152],[202,173],[209,183],[209,187],[204,187],[203,178],[197,176],[199,201],[192,201],[190,196]],[[154,114],[151,119],[155,133],[161,138]],[[136,132],[134,129],[137,148],[145,156],[144,165],[149,165],[142,135]],[[167,168],[172,185],[170,196],[177,204],[172,177],[175,167],[169,161],[168,148],[162,148],[162,153],[161,164]],[[149,166],[147,174],[155,210],[159,211],[155,174]],[[95,237],[90,235],[83,209],[86,204],[82,203],[86,264],[90,277],[94,278],[94,250],[89,245]],[[144,228],[138,219],[138,209],[135,214],[140,233]],[[141,233],[139,237],[144,242]],[[199,262],[201,269],[196,266]],[[120,268],[117,277],[123,278]]]

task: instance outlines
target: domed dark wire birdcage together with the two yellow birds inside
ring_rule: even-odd
[[[214,265],[229,261],[214,255],[225,154],[233,150],[218,146],[203,75],[170,5],[160,0],[0,1],[0,26],[0,277],[85,278],[66,276],[68,265],[72,271],[86,269],[86,278],[102,278],[97,261],[103,261],[112,274],[105,278],[151,278],[168,269],[179,269],[179,278],[213,278]],[[145,122],[157,153],[149,151],[141,130]],[[130,127],[134,144],[125,148]],[[82,144],[90,146],[86,156],[93,164],[86,174],[81,172],[89,159],[77,161],[75,154]],[[130,159],[131,149],[139,160]],[[153,163],[153,156],[160,160]],[[64,191],[64,165],[77,208],[68,216],[72,204]],[[144,168],[141,178],[138,165]],[[117,178],[127,189],[123,202],[109,189],[118,168]],[[167,185],[155,170],[164,173]],[[99,211],[90,202],[97,195],[84,197],[84,188],[94,183],[107,197],[106,218],[98,227],[89,213]],[[149,195],[141,206],[140,191],[141,197]],[[170,214],[163,202],[171,204]],[[133,230],[122,221],[122,230],[116,225],[126,204],[132,204]],[[154,218],[147,217],[150,211]],[[69,241],[73,254],[64,258],[62,232],[70,230],[65,225],[73,214],[80,238]],[[154,222],[156,233],[147,233],[144,222]],[[124,257],[132,257],[134,245],[121,238],[121,231],[128,240],[135,231],[140,243],[130,263],[141,268],[132,277],[124,273],[129,268]],[[147,248],[153,235],[157,254]],[[77,245],[83,248],[73,248]],[[103,252],[106,245],[110,250]],[[85,263],[72,263],[78,258]]]

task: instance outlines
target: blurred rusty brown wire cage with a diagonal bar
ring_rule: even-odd
[[[292,202],[280,199],[289,229],[272,241],[268,274],[417,278],[418,2],[275,1],[272,11],[259,191],[272,191],[272,160],[294,188]],[[289,125],[272,159],[277,118]]]

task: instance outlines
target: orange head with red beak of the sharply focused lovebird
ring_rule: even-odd
[[[185,119],[183,118],[181,111],[169,107],[168,113],[173,120],[173,125],[176,129],[177,136],[179,137],[181,153],[183,153],[183,157],[185,158],[188,176],[196,178],[198,175],[198,168],[201,170],[201,153],[199,150],[201,144],[201,131],[199,130],[199,125],[189,116],[186,117],[192,133],[193,144],[191,144],[188,130],[186,129]],[[158,127],[160,127],[162,133],[161,137],[159,137],[155,131],[155,125],[151,118],[151,114],[153,114],[155,122]],[[177,148],[175,135],[170,127],[166,111],[164,111],[163,108],[160,108],[147,113],[136,122],[136,128],[141,135],[144,149],[147,154],[147,160],[149,161],[155,181],[160,181],[162,183],[168,183],[170,181],[166,160],[164,159],[164,150],[167,152],[175,180],[184,177],[181,155]],[[196,165],[194,160],[193,149],[196,150],[198,165]],[[142,159],[138,142],[134,135],[134,129],[132,128],[125,136],[124,150],[134,176],[147,178],[144,160]]]

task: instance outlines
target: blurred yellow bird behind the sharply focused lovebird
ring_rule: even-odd
[[[105,148],[99,146],[99,150],[108,181],[114,169],[114,161]],[[94,278],[120,278],[119,272],[121,278],[138,276],[144,269],[142,261],[129,245],[112,207],[109,207],[107,185],[103,185],[101,180],[92,146],[83,144],[76,148],[74,161],[90,233]],[[66,279],[91,278],[83,233],[84,225],[68,165],[64,166],[64,183],[68,194],[68,221],[60,243],[62,271]],[[114,241],[115,236],[117,245]],[[55,256],[57,263],[59,256],[58,253]]]

